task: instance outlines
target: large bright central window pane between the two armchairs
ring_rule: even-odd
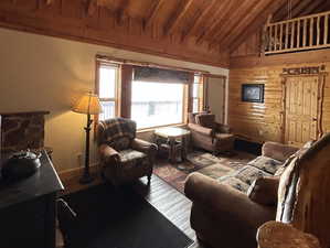
[[[183,122],[184,85],[134,80],[131,119],[137,128]]]

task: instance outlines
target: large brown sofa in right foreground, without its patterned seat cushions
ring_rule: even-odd
[[[199,173],[185,182],[192,201],[191,226],[211,247],[257,247],[257,228],[268,222],[291,223],[330,245],[330,134],[300,150],[274,142],[263,155],[286,159],[275,176],[260,176],[247,192]]]

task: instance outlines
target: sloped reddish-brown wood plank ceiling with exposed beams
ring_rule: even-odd
[[[1,0],[0,26],[228,67],[228,51],[287,0]],[[329,0],[292,0],[292,17]]]

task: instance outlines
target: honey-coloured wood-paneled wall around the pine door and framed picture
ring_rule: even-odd
[[[276,55],[275,55],[276,56]],[[275,57],[274,56],[274,57]],[[280,55],[278,55],[280,56]],[[296,56],[291,54],[291,56]],[[308,58],[306,58],[308,60]],[[263,63],[260,63],[263,64]],[[277,63],[267,66],[245,66],[230,71],[228,123],[234,132],[253,141],[280,141],[281,139],[281,77],[285,67],[326,65],[330,73],[330,62],[287,64],[277,58]],[[265,84],[264,104],[243,103],[242,84]],[[330,132],[330,77],[326,78],[322,126],[323,132]]]

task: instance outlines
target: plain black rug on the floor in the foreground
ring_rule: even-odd
[[[102,184],[64,196],[76,212],[72,248],[185,248],[193,241],[130,187]]]

